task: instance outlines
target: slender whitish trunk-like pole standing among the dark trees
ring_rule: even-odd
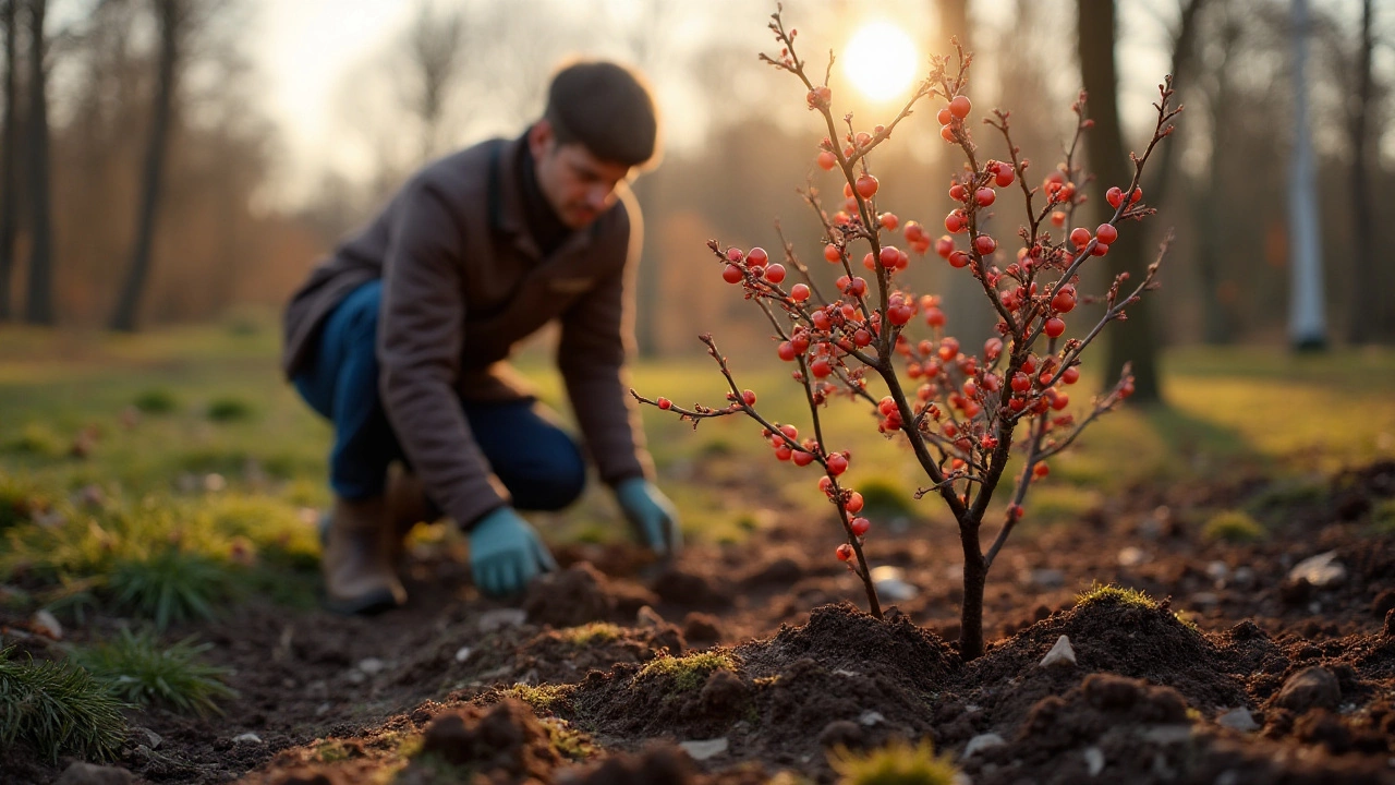
[[[1295,349],[1327,345],[1317,177],[1307,106],[1307,0],[1293,0],[1293,161],[1289,169],[1289,341]]]

